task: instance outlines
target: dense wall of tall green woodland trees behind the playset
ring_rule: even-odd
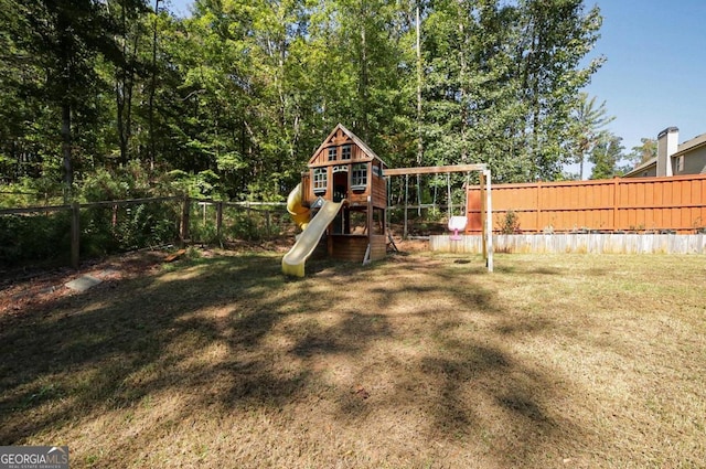
[[[281,200],[338,122],[391,166],[554,179],[602,63],[585,61],[601,19],[579,0],[196,1],[185,19],[143,0],[2,4],[3,181],[75,174],[86,200],[138,196],[156,173],[162,193]]]

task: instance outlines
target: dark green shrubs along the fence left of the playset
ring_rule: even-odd
[[[82,257],[174,242],[263,239],[287,226],[284,205],[165,196],[2,209],[0,268],[38,262],[77,267]]]

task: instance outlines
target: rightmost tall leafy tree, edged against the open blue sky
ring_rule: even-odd
[[[523,0],[518,64],[522,99],[527,105],[526,148],[534,178],[552,179],[569,160],[569,114],[578,93],[600,67],[602,57],[581,61],[598,39],[598,7],[584,13],[582,0]]]

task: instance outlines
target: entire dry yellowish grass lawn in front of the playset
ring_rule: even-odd
[[[0,445],[72,468],[706,465],[706,258],[216,252],[0,313]]]

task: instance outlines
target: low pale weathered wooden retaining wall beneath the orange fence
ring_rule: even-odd
[[[706,254],[706,234],[514,234],[493,235],[495,253]],[[451,239],[429,237],[429,249],[441,253],[482,252],[480,235]]]

